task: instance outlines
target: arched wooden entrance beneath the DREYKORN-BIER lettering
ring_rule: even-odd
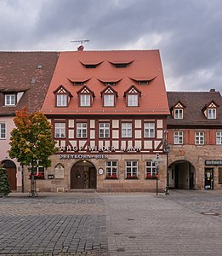
[[[96,189],[96,168],[87,160],[71,167],[71,189]]]

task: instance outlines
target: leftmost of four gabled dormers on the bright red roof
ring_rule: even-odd
[[[70,91],[66,90],[62,84],[56,90],[54,90],[54,96],[55,107],[65,108],[69,106],[72,95]]]

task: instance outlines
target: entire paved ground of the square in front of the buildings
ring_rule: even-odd
[[[222,190],[0,198],[0,256],[222,255]]]

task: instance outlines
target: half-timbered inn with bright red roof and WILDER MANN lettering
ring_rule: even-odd
[[[41,110],[60,152],[41,170],[40,191],[165,189],[169,110],[158,50],[61,52]]]

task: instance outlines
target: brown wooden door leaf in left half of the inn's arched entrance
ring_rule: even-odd
[[[84,189],[83,166],[73,166],[71,170],[71,189]]]

